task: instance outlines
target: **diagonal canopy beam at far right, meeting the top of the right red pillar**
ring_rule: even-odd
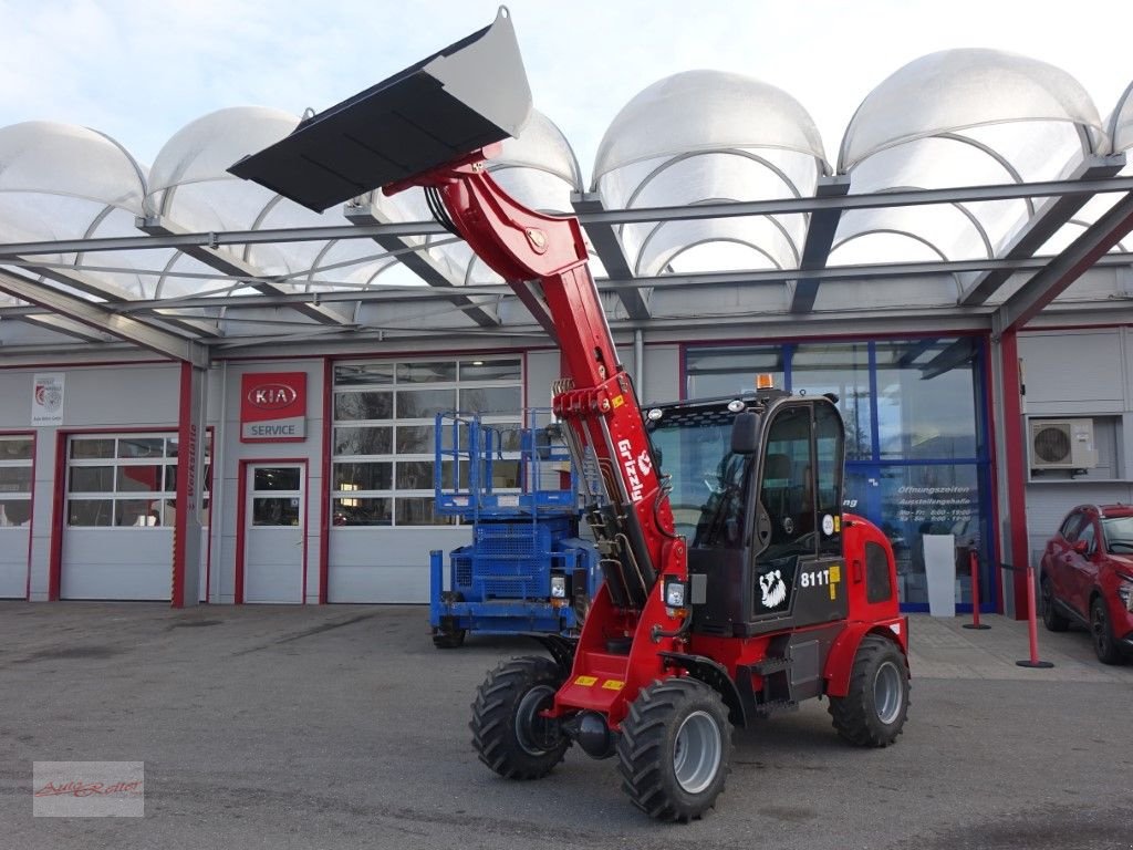
[[[1133,192],[1114,204],[1066,250],[1004,301],[991,317],[993,332],[1003,335],[1025,325],[1131,230]]]

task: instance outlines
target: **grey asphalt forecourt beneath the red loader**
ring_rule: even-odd
[[[810,700],[738,731],[715,810],[675,825],[577,748],[534,782],[477,760],[469,704],[521,638],[437,651],[424,606],[0,603],[0,848],[1133,848],[1133,665],[911,620],[894,747]],[[144,763],[144,817],[33,816],[33,763],[95,760]]]

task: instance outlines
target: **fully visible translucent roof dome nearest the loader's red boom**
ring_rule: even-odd
[[[786,92],[739,74],[697,70],[636,95],[598,146],[593,186],[608,209],[807,197],[829,173],[821,137]],[[627,224],[638,275],[798,267],[806,215]]]

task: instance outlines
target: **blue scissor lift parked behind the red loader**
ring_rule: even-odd
[[[569,635],[599,580],[594,545],[578,536],[579,473],[557,427],[491,425],[438,414],[436,512],[471,525],[472,542],[431,554],[429,624],[438,648],[467,632]]]

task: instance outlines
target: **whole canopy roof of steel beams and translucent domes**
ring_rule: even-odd
[[[1133,317],[1114,315],[1133,298],[1133,85],[1105,114],[1047,63],[944,51],[870,93],[832,165],[786,92],[689,71],[627,103],[588,182],[537,111],[489,168],[578,215],[615,334],[1003,333]],[[95,130],[0,128],[0,358],[547,343],[538,294],[521,303],[419,190],[318,213],[229,173],[297,126],[222,109],[152,168]]]

